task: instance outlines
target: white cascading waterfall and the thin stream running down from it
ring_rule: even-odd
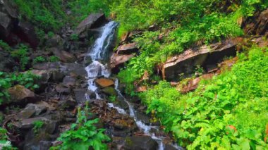
[[[97,92],[98,87],[95,85],[96,78],[99,76],[109,77],[111,75],[108,65],[105,63],[106,61],[105,59],[106,59],[106,56],[108,56],[109,54],[109,51],[108,51],[109,46],[111,45],[111,42],[113,41],[117,25],[118,24],[115,23],[114,21],[111,21],[107,23],[106,25],[104,25],[104,27],[102,27],[101,36],[96,40],[94,46],[92,46],[92,48],[90,49],[90,54],[88,54],[88,56],[90,56],[90,58],[92,59],[92,63],[90,63],[90,65],[88,65],[85,68],[85,70],[87,71],[88,90],[90,92],[95,92],[96,99],[102,99]],[[158,127],[145,125],[144,123],[142,123],[141,120],[138,120],[137,116],[135,115],[135,110],[133,108],[133,105],[130,104],[130,102],[126,100],[126,98],[121,94],[120,90],[118,89],[117,79],[115,80],[115,89],[118,92],[118,96],[119,96],[118,98],[123,99],[123,101],[126,101],[126,104],[128,104],[129,115],[130,117],[134,118],[135,123],[138,125],[140,130],[142,130],[145,135],[152,137],[152,139],[158,142],[159,150],[164,149],[164,144],[162,142],[164,137],[157,137],[152,132],[152,129],[158,130]],[[89,96],[86,95],[86,97],[87,99],[90,99]],[[127,114],[125,110],[117,106],[114,106],[114,104],[112,103],[109,103],[108,106],[111,108],[115,108],[118,111],[118,113],[121,113],[124,115]],[[178,146],[174,146],[174,148],[178,149]]]

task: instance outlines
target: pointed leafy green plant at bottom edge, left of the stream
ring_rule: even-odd
[[[63,132],[59,137],[63,144],[52,149],[107,149],[103,142],[109,142],[109,137],[104,135],[104,129],[97,129],[95,126],[99,119],[87,120],[89,115],[87,102],[84,111],[78,108],[77,123],[71,126],[71,130]]]

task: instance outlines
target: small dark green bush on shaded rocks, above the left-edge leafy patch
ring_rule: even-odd
[[[25,70],[25,66],[29,63],[29,48],[24,44],[19,44],[18,49],[11,51],[11,56],[18,61],[20,69]]]

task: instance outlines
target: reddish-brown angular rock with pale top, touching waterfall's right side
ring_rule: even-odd
[[[130,60],[130,58],[133,58],[135,55],[130,54],[130,55],[118,55],[118,54],[113,54],[111,56],[111,72],[112,73],[118,73],[120,68],[123,68],[124,63]]]

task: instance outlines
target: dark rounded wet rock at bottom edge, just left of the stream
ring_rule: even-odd
[[[152,137],[147,136],[133,136],[127,137],[125,140],[124,149],[141,149],[141,150],[155,150],[158,148],[158,144]]]

